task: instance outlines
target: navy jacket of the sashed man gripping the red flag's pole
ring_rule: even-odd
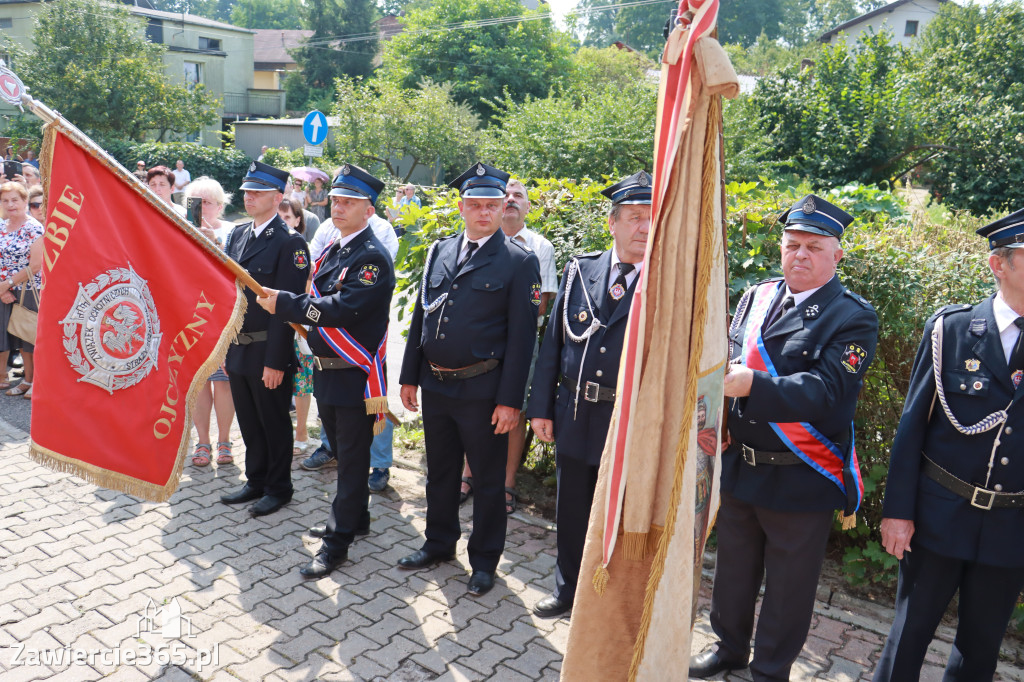
[[[340,283],[340,288],[336,287]],[[387,333],[394,293],[394,264],[387,249],[367,227],[341,247],[327,251],[313,285],[321,297],[282,292],[278,314],[286,321],[315,324],[307,340],[313,355],[338,357],[319,327],[341,327],[373,355]],[[362,404],[367,373],[358,368],[315,370],[316,402],[337,407]]]

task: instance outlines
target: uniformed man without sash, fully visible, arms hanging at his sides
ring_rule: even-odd
[[[518,424],[537,338],[541,274],[537,256],[501,231],[509,175],[477,163],[458,188],[466,229],[435,242],[401,366],[401,399],[416,412],[423,391],[427,528],[421,550],[402,557],[420,568],[455,556],[463,453],[473,470],[468,591],[494,587],[505,549],[508,432]]]

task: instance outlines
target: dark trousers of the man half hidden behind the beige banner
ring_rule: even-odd
[[[555,597],[571,604],[583,564],[583,546],[587,540],[590,508],[597,487],[600,467],[583,460],[556,457],[555,477],[558,498],[555,519],[558,522],[558,561],[555,564]]]

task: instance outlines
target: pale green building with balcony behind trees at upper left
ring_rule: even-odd
[[[138,19],[139,32],[167,48],[164,70],[170,80],[202,83],[220,100],[219,122],[203,130],[196,141],[219,146],[217,131],[236,121],[284,116],[284,90],[255,84],[254,31],[195,14],[165,12],[148,0],[125,4]],[[31,49],[41,6],[39,0],[0,0],[0,33]],[[16,72],[17,65],[13,69]]]

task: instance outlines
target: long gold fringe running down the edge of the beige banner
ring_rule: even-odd
[[[698,94],[696,91],[694,94]],[[708,124],[705,130],[702,177],[700,186],[700,244],[710,244],[715,230],[715,188],[718,178],[717,173],[712,171],[716,168],[716,141],[718,140],[718,126],[721,118],[721,97],[712,95],[708,105]],[[724,206],[722,207],[725,208]],[[697,273],[696,287],[694,289],[693,319],[691,329],[702,330],[708,319],[708,289],[711,287],[711,272],[714,258],[712,254],[697,251]],[[686,397],[685,404],[695,406],[697,398],[697,372],[695,367],[703,354],[703,334],[698,334],[693,340],[690,350],[689,361],[686,373]],[[647,580],[647,589],[644,594],[643,614],[640,619],[640,631],[637,634],[636,642],[633,645],[633,660],[630,663],[630,682],[635,682],[640,673],[640,664],[643,660],[644,647],[647,643],[647,635],[650,632],[651,617],[653,616],[654,595],[657,586],[665,574],[666,557],[669,552],[669,541],[675,531],[676,513],[679,509],[679,501],[683,493],[683,474],[686,468],[686,446],[689,442],[689,433],[692,420],[683,420],[680,428],[679,445],[676,452],[676,467],[672,481],[672,496],[668,513],[666,515],[665,531],[662,535],[657,546],[657,553],[654,555],[650,577]]]

